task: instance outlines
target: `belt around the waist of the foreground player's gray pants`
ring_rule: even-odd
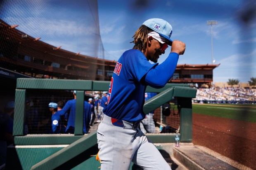
[[[112,126],[119,126],[125,129],[137,129],[140,125],[140,122],[128,122],[119,119],[114,119],[112,117],[107,116],[106,114],[103,116],[102,123],[112,125]]]

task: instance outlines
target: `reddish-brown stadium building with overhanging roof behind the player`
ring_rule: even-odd
[[[0,20],[0,67],[34,78],[110,81],[116,61],[54,47]],[[218,65],[177,65],[170,83],[211,86]]]

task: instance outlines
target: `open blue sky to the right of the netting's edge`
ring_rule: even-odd
[[[142,2],[137,3],[135,2]],[[239,79],[248,82],[256,77],[256,20],[243,24],[240,16],[246,9],[243,0],[98,0],[100,33],[105,59],[118,60],[133,47],[137,28],[150,18],[161,18],[173,27],[172,40],[186,43],[186,51],[178,64],[211,64],[211,26],[213,26],[213,58],[220,64],[213,70],[214,82]],[[147,2],[147,3],[143,3]],[[255,2],[252,2],[255,7]],[[254,9],[255,10],[255,9]],[[162,63],[168,56],[159,58]]]

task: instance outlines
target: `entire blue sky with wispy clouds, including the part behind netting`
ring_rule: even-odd
[[[145,20],[161,18],[173,27],[171,39],[186,43],[178,64],[211,64],[211,26],[206,21],[218,21],[212,26],[213,58],[220,65],[213,70],[213,82],[248,82],[256,77],[255,0],[1,2],[5,10],[0,7],[0,16],[9,25],[18,24],[17,29],[55,47],[111,61],[133,48],[132,37]],[[251,15],[246,9],[251,10]],[[168,47],[159,58],[160,64],[170,50]]]

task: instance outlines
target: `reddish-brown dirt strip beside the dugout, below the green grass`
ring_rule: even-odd
[[[192,132],[193,144],[256,170],[256,123],[193,113]]]

